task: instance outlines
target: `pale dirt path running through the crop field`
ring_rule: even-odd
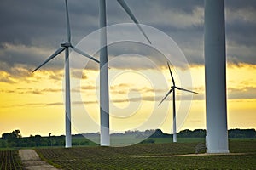
[[[46,161],[42,161],[35,150],[19,150],[20,159],[28,170],[45,169],[55,170],[56,168],[49,165]]]

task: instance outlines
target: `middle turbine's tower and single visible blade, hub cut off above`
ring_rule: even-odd
[[[101,50],[100,50],[100,109],[101,109],[101,145],[110,145],[109,135],[109,94],[108,94],[108,47],[107,47],[107,19],[106,19],[106,0],[99,0],[99,15],[100,15],[100,29],[101,29]],[[137,25],[138,29],[142,31],[143,36],[151,43],[139,25],[131,9],[124,0],[117,0],[125,12],[131,17],[131,20]]]

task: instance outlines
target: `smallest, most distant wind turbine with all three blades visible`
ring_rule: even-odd
[[[171,89],[170,89],[169,92],[166,94],[166,96],[164,97],[164,99],[162,99],[162,100],[160,101],[160,104],[159,104],[159,105],[161,105],[161,103],[168,97],[168,95],[172,93],[173,142],[177,142],[175,89],[177,88],[178,90],[190,92],[190,93],[193,93],[193,94],[198,94],[198,93],[193,92],[193,91],[190,91],[190,90],[187,90],[187,89],[185,89],[185,88],[179,88],[179,87],[177,87],[177,86],[175,85],[174,78],[173,78],[173,76],[172,76],[172,71],[171,71],[171,68],[170,68],[170,65],[169,65],[168,62],[167,62],[167,65],[168,65],[168,68],[169,68],[169,71],[170,71],[170,74],[171,74],[171,77],[172,77],[173,86],[171,86]]]

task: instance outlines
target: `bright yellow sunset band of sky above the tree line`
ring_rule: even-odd
[[[189,68],[194,91],[189,113],[186,115],[183,126],[180,129],[206,128],[206,110],[204,100],[204,67],[192,65]],[[177,70],[178,72],[178,70]],[[10,77],[13,82],[1,82],[0,88],[0,126],[1,132],[6,133],[14,129],[20,129],[23,136],[30,134],[54,135],[64,134],[64,105],[62,90],[62,71],[38,71],[23,77]],[[98,99],[98,71],[84,71],[80,90],[83,105],[95,122],[99,122]],[[111,76],[113,74],[113,76]],[[160,74],[165,79],[160,80]],[[115,75],[115,76],[114,76]],[[150,75],[150,76],[148,76]],[[7,73],[1,72],[0,77],[7,77]],[[174,74],[177,84],[180,84],[178,74]],[[255,65],[228,65],[228,126],[229,128],[255,128],[256,127],[256,66]],[[166,81],[164,87],[156,82]],[[158,79],[160,78],[160,79]],[[172,96],[163,104],[167,110],[157,108],[160,98],[168,92],[172,81],[166,67],[158,71],[138,70],[119,71],[110,69],[110,99],[113,105],[110,107],[111,128],[126,130],[139,128],[139,125],[148,119],[152,112],[166,114],[165,120],[159,127],[165,133],[171,133],[172,127]],[[74,92],[79,93],[79,92]],[[180,95],[177,93],[177,108]],[[74,106],[75,107],[75,106]],[[163,106],[164,107],[164,106]],[[182,106],[181,106],[182,107]],[[76,110],[73,110],[76,111]],[[120,112],[121,111],[121,112]],[[163,112],[165,113],[163,113]],[[180,108],[179,113],[182,113]],[[73,114],[73,113],[72,113]],[[120,117],[123,117],[121,120]],[[125,118],[124,118],[125,117]],[[125,121],[124,121],[125,120]],[[150,127],[148,127],[150,129]],[[73,133],[80,133],[73,128]]]

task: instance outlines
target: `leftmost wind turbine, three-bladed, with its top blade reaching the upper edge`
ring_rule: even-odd
[[[61,48],[58,48],[54,54],[50,55],[48,59],[44,61],[43,64],[39,65],[34,71],[37,71],[40,67],[48,63],[51,59],[54,59],[58,54],[61,54],[65,50],[65,122],[66,122],[66,148],[72,146],[72,137],[71,137],[71,105],[70,105],[70,74],[69,74],[69,48],[73,48],[75,52],[78,54],[82,54],[85,57],[100,63],[97,59],[93,58],[89,54],[84,53],[79,50],[79,48],[75,48],[71,43],[71,32],[70,32],[70,24],[69,24],[69,16],[68,16],[68,8],[67,8],[67,0],[65,0],[66,4],[66,18],[67,18],[67,42],[61,43]]]

